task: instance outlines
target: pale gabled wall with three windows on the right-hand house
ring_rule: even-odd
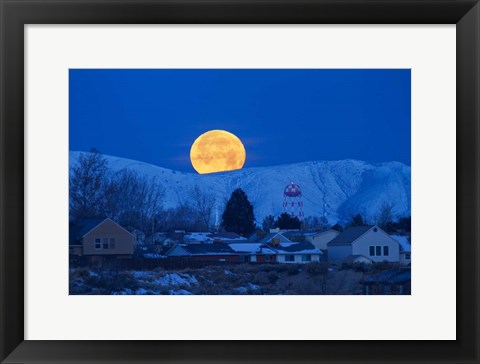
[[[400,261],[400,244],[392,239],[387,233],[381,229],[370,229],[367,233],[359,237],[352,244],[353,255],[363,255],[370,258],[374,262],[399,262]],[[370,255],[370,246],[381,246],[381,255]],[[383,254],[383,247],[388,246],[388,255]],[[376,253],[376,252],[375,252]],[[329,252],[330,254],[330,252]]]

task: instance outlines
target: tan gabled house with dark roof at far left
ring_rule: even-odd
[[[70,254],[131,257],[135,236],[111,219],[78,219],[70,224]]]

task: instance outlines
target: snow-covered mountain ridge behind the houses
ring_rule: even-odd
[[[70,152],[70,166],[81,152]],[[125,168],[154,178],[165,188],[165,208],[188,200],[199,186],[216,195],[218,214],[236,188],[242,188],[254,206],[255,219],[283,212],[283,191],[290,182],[302,190],[305,216],[321,217],[330,223],[349,220],[361,213],[373,220],[384,203],[393,205],[394,216],[409,216],[411,208],[410,167],[399,162],[371,164],[358,160],[314,161],[238,171],[199,175],[178,172],[130,159],[105,156],[113,171]]]

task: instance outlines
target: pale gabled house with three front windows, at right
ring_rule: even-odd
[[[327,243],[328,261],[363,255],[373,262],[399,262],[400,244],[378,226],[352,226]]]

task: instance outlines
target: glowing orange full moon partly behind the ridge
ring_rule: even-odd
[[[245,163],[245,147],[234,134],[210,130],[200,135],[190,149],[192,166],[200,174],[233,171]]]

